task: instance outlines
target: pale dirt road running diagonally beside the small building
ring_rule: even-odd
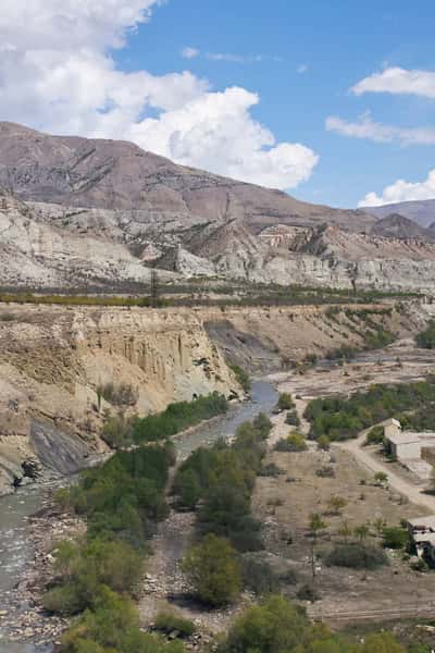
[[[378,471],[385,472],[388,476],[388,484],[393,490],[406,496],[411,503],[424,506],[435,513],[435,496],[425,494],[424,485],[417,485],[411,481],[407,481],[407,479],[393,471],[389,465],[375,458],[370,451],[362,446],[364,440],[365,431],[361,433],[357,440],[336,443],[336,446],[349,452],[357,463],[362,465],[362,467],[365,467],[369,471],[372,471],[373,473]]]

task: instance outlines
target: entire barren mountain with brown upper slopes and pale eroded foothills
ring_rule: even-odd
[[[0,123],[0,285],[144,289],[164,280],[425,291],[431,232],[299,201],[115,140]]]

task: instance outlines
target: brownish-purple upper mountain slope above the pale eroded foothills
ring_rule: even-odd
[[[0,186],[23,199],[69,207],[142,209],[150,218],[244,219],[258,233],[276,221],[332,222],[360,231],[375,221],[364,211],[299,201],[200,170],[176,165],[132,143],[50,136],[0,123]]]

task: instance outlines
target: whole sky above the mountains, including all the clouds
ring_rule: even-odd
[[[435,198],[434,0],[2,0],[0,120],[340,207]]]

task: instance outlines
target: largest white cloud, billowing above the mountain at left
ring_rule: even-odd
[[[158,76],[116,67],[113,49],[159,4],[3,0],[1,119],[52,133],[132,139],[177,162],[272,187],[307,180],[316,155],[276,143],[250,113],[257,95],[214,93],[190,72]]]

